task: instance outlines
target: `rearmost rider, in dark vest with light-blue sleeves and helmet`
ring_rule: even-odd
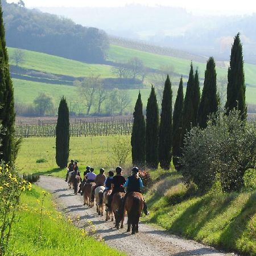
[[[127,198],[127,196],[129,195],[129,193],[131,192],[141,192],[141,189],[143,188],[143,182],[142,179],[139,177],[139,168],[138,167],[133,167],[133,169],[131,170],[131,172],[133,173],[131,176],[129,176],[125,182],[125,184],[123,185],[123,187],[127,188],[126,189],[126,194],[123,197],[123,201],[122,201],[122,205],[120,207],[120,209],[117,210],[119,216],[122,216],[123,211],[125,209],[125,200]],[[143,199],[143,212],[145,215],[148,215],[149,212],[147,210],[147,204],[145,199]]]

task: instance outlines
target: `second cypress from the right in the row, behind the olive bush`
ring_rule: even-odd
[[[197,114],[197,122],[201,128],[207,127],[208,116],[216,113],[218,109],[216,69],[213,57],[207,61],[204,75],[204,88]]]

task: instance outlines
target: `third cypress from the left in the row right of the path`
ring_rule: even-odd
[[[164,84],[162,112],[159,127],[159,163],[164,170],[170,169],[172,159],[172,88],[170,77],[167,75]]]

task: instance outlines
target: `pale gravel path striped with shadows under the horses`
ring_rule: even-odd
[[[105,216],[98,216],[95,208],[84,206],[82,196],[74,195],[73,190],[68,189],[64,179],[40,176],[37,184],[52,193],[57,207],[75,220],[76,226],[79,228],[86,226],[86,230],[91,233],[96,232],[94,236],[100,240],[104,239],[109,246],[124,251],[128,255],[234,255],[221,253],[195,241],[172,236],[164,230],[147,224],[139,224],[139,233],[135,235],[126,233],[126,225],[124,229],[116,230],[113,228],[114,222],[105,222]],[[80,216],[79,220],[77,216]]]

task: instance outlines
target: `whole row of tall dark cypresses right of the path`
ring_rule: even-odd
[[[133,131],[131,135],[133,164],[148,168],[160,167],[168,170],[173,155],[173,163],[179,170],[179,158],[182,154],[185,134],[191,127],[199,125],[207,127],[208,116],[216,113],[220,103],[217,94],[216,64],[213,57],[207,61],[202,95],[200,95],[199,74],[189,71],[185,98],[183,97],[183,78],[181,77],[172,115],[172,89],[170,77],[167,75],[164,84],[162,112],[160,115],[156,101],[155,89],[152,86],[147,101],[146,122],[144,120],[141,93],[135,105]],[[241,119],[245,120],[247,109],[245,104],[245,78],[243,72],[243,55],[240,34],[234,38],[228,69],[226,114],[238,109]]]

